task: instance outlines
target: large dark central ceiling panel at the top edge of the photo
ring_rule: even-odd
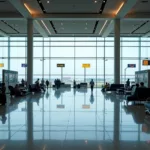
[[[47,13],[99,13],[103,0],[41,0]]]

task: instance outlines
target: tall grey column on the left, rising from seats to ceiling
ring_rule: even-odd
[[[33,20],[27,23],[27,83],[33,82]]]

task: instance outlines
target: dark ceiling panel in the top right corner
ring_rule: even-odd
[[[131,13],[150,12],[150,0],[138,0]]]

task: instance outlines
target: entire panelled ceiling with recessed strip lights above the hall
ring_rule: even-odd
[[[0,0],[0,33],[26,36],[33,18],[35,36],[113,36],[119,18],[121,36],[149,36],[149,8],[148,0]]]

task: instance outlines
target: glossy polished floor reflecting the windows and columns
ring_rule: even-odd
[[[100,89],[8,97],[0,150],[150,150],[150,115]]]

